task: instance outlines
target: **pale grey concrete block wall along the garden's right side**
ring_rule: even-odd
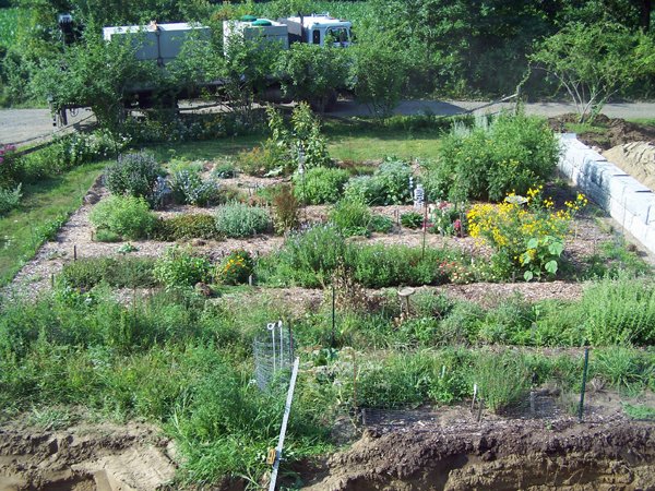
[[[655,193],[581,143],[573,133],[560,136],[558,167],[580,190],[655,253]]]

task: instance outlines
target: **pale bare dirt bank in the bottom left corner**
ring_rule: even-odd
[[[170,442],[145,424],[66,431],[0,426],[0,491],[156,490],[175,476]]]

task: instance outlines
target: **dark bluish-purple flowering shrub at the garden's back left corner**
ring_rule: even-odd
[[[152,154],[127,154],[105,169],[105,183],[112,194],[150,199],[160,173]]]

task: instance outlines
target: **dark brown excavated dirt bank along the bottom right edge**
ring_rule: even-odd
[[[603,417],[367,430],[348,452],[315,469],[307,489],[643,490],[654,482],[653,424]]]

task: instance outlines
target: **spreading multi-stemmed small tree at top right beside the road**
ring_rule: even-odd
[[[615,94],[655,72],[652,37],[611,23],[573,23],[544,39],[532,61],[547,70],[593,121]]]

